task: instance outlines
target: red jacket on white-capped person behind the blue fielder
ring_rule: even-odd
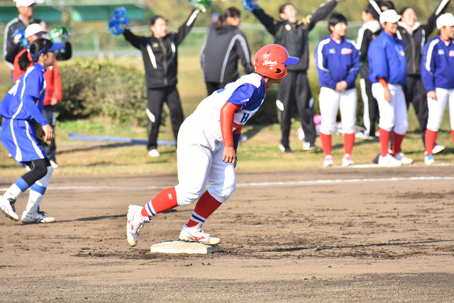
[[[14,68],[13,68],[13,79],[14,82],[19,79],[24,72],[19,68],[19,57],[27,50],[21,50],[16,57],[14,58]],[[28,53],[28,60],[31,61],[31,55]],[[29,67],[33,66],[33,62]],[[28,68],[28,67],[27,67]],[[44,97],[44,106],[50,105],[50,99],[57,99],[57,103],[62,101],[62,79],[60,77],[60,71],[58,70],[57,60],[55,60],[54,66],[48,67],[44,73],[44,79],[46,83],[45,97]]]

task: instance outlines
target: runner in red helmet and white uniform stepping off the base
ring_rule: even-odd
[[[206,244],[221,242],[204,233],[201,225],[235,191],[234,165],[241,129],[262,105],[267,87],[281,83],[287,75],[285,65],[298,61],[297,57],[289,57],[283,46],[267,45],[255,54],[255,73],[240,77],[201,101],[179,129],[179,184],[162,190],[145,206],[129,206],[126,225],[129,245],[137,245],[140,228],[151,221],[151,216],[197,199],[179,238]],[[210,182],[208,190],[206,181]]]

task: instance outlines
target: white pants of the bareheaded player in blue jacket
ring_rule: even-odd
[[[358,95],[356,89],[337,92],[328,87],[320,89],[320,132],[332,135],[336,131],[336,117],[341,110],[342,130],[344,133],[356,133],[356,106]]]

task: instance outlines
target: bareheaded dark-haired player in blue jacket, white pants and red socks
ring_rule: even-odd
[[[336,117],[341,110],[344,133],[342,165],[353,165],[351,153],[355,143],[355,121],[358,95],[355,79],[360,70],[360,55],[355,42],[345,38],[347,18],[333,13],[328,21],[331,35],[321,40],[315,51],[319,72],[321,128],[320,139],[325,154],[323,165],[334,164],[331,155],[331,135],[336,131]]]

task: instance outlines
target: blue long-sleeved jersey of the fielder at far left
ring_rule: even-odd
[[[8,119],[38,121],[45,126],[43,116],[45,97],[45,67],[35,62],[9,89],[0,104],[0,116]]]

